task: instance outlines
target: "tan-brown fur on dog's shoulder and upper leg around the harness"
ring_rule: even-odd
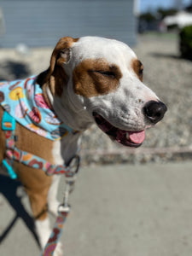
[[[0,119],[3,116],[3,108],[0,108]],[[45,137],[38,136],[32,131],[27,130],[20,124],[16,124],[15,135],[18,141],[15,143],[17,148],[36,154],[44,160],[54,164],[52,148],[53,142]],[[0,122],[0,164],[5,154],[5,135],[2,131]],[[47,215],[47,195],[52,177],[48,177],[42,170],[25,166],[17,161],[14,162],[14,170],[17,173],[21,183],[26,189],[29,200],[32,205],[32,212],[35,218],[44,219]]]

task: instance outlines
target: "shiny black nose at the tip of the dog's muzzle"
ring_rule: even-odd
[[[163,102],[147,102],[144,106],[145,116],[153,123],[156,124],[159,122],[166,113],[166,105]]]

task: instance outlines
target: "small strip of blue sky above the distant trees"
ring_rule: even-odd
[[[154,9],[161,8],[172,8],[175,6],[177,0],[138,0],[140,12],[146,12],[148,10],[153,11]],[[192,0],[183,0],[183,6],[192,3]]]

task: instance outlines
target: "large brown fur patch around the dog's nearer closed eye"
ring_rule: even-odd
[[[121,77],[117,65],[103,59],[87,59],[73,71],[73,89],[84,97],[105,95],[118,88]]]

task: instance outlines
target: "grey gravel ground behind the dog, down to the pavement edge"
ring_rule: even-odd
[[[20,79],[48,67],[52,49],[30,49],[20,55],[15,49],[0,49],[0,80]],[[144,83],[166,103],[168,112],[160,124],[146,133],[141,148],[123,148],[112,143],[93,125],[82,143],[84,164],[185,160],[192,155],[192,62],[179,57],[177,36],[138,38],[134,48],[144,65]]]

